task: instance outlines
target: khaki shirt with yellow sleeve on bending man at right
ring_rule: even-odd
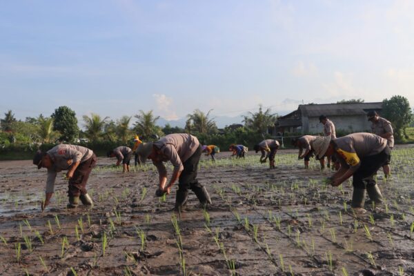
[[[336,156],[341,166],[350,167],[355,172],[361,166],[361,159],[377,155],[386,148],[386,139],[372,133],[353,133],[333,139]]]

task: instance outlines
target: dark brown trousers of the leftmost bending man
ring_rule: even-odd
[[[90,159],[83,161],[76,168],[73,173],[73,177],[69,179],[68,195],[70,197],[79,197],[79,195],[85,195],[86,183],[88,183],[90,172],[97,164],[97,156],[95,153]]]

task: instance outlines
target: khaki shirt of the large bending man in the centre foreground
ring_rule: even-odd
[[[199,145],[197,137],[185,133],[166,135],[153,143],[153,146],[159,148],[171,162],[175,172],[184,170],[183,163],[194,154]],[[162,161],[152,161],[152,164],[157,167],[159,175],[167,175],[166,166]]]

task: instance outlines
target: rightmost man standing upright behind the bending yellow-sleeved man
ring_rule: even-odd
[[[392,150],[394,147],[394,132],[393,127],[391,126],[391,122],[387,119],[380,117],[378,113],[375,111],[369,111],[368,113],[366,113],[366,117],[368,118],[368,121],[371,121],[373,123],[371,125],[372,132],[382,138],[385,138],[388,143],[388,147]],[[391,175],[390,163],[391,155],[382,166],[385,177]]]

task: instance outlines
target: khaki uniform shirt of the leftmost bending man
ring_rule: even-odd
[[[57,145],[51,150],[48,150],[48,155],[53,161],[52,168],[48,168],[48,179],[46,180],[46,193],[53,193],[55,191],[55,181],[57,172],[68,170],[72,163],[90,159],[93,151],[83,146],[75,145]]]

